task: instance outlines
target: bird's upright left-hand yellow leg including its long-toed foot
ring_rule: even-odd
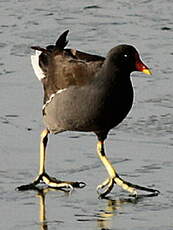
[[[48,142],[48,129],[42,131],[40,135],[40,166],[39,166],[39,174],[36,179],[27,185],[22,185],[17,189],[20,191],[28,190],[28,189],[37,189],[37,185],[40,183],[44,183],[50,188],[55,189],[65,189],[66,191],[72,191],[73,188],[83,188],[85,187],[84,182],[72,182],[72,181],[61,181],[57,180],[54,177],[50,177],[45,171],[45,163],[46,163],[46,147]]]

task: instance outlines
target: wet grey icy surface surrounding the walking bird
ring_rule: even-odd
[[[0,11],[0,228],[172,229],[172,1],[7,0]],[[30,46],[53,43],[66,29],[71,47],[106,55],[119,43],[132,44],[151,67],[151,77],[133,73],[134,106],[112,130],[106,151],[123,177],[159,189],[158,197],[135,200],[115,188],[99,200],[95,188],[106,173],[95,137],[86,133],[52,136],[48,152],[51,174],[85,181],[85,189],[70,195],[14,190],[38,167],[42,89]]]

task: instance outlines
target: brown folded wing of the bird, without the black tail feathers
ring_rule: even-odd
[[[60,89],[72,85],[88,84],[99,72],[104,59],[86,61],[79,59],[77,55],[74,58],[72,55],[67,55],[66,51],[52,53],[47,60],[44,57],[44,67],[43,57],[40,57],[40,66],[46,75],[46,78],[42,80],[45,93],[44,101]],[[87,58],[91,59],[91,56],[89,55]]]

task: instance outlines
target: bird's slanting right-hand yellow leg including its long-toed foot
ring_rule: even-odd
[[[119,185],[122,189],[130,192],[133,196],[137,195],[136,190],[143,190],[146,192],[152,193],[152,195],[158,195],[159,191],[155,189],[145,188],[139,185],[135,185],[132,183],[129,183],[122,178],[119,177],[118,173],[116,172],[115,168],[113,168],[112,164],[108,160],[107,156],[105,155],[104,151],[104,141],[98,141],[97,143],[97,154],[99,158],[101,159],[103,165],[105,166],[109,177],[100,185],[97,187],[97,192],[100,196],[104,197],[107,194],[109,194],[114,187],[114,184]],[[104,190],[103,192],[100,192],[101,190]]]

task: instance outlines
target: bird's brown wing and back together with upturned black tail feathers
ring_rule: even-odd
[[[64,49],[68,30],[60,35],[55,45],[46,49],[32,47],[41,51],[39,67],[44,73],[44,103],[53,93],[72,85],[88,84],[101,69],[104,57],[84,53],[75,49]]]

